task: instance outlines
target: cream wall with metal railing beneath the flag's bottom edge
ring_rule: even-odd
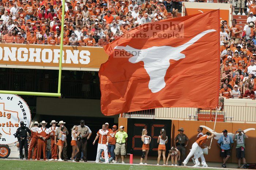
[[[217,112],[217,121],[239,123],[256,122],[256,106],[224,105],[220,110],[217,109]],[[121,117],[214,121],[215,115],[216,108],[156,108],[123,113]]]

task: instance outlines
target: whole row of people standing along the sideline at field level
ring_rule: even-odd
[[[46,128],[47,122],[44,120],[41,123],[35,121],[33,127],[30,129],[25,126],[24,122],[20,122],[20,127],[17,129],[15,137],[18,138],[20,159],[25,157],[26,160],[39,161],[41,156],[44,161],[68,161],[67,156],[67,137],[69,135],[69,130],[65,127],[64,121],[58,122],[52,120],[50,122],[50,127]],[[39,125],[41,125],[39,127]],[[97,155],[95,162],[104,163],[118,163],[118,156],[121,155],[121,163],[124,162],[124,156],[126,155],[126,145],[128,135],[124,131],[124,126],[120,125],[117,129],[116,125],[109,128],[109,123],[102,124],[102,128],[98,130],[95,134],[93,145],[98,143]],[[197,129],[197,139],[192,145],[192,149],[186,158],[186,149],[188,146],[188,137],[184,134],[184,129],[178,129],[179,134],[174,138],[174,146],[171,147],[168,157],[166,159],[166,144],[168,142],[168,136],[165,129],[160,130],[159,136],[157,138],[158,144],[158,158],[157,165],[160,163],[161,155],[163,157],[163,165],[168,165],[169,159],[171,159],[172,166],[184,166],[187,165],[188,160],[192,158],[194,167],[199,167],[200,162],[198,158],[201,158],[201,163],[203,167],[208,167],[206,160],[204,159],[204,154],[208,149],[206,142],[208,139],[214,137],[214,131],[212,134],[206,132],[203,134],[203,128],[198,127]],[[218,146],[220,148],[220,156],[223,158],[222,167],[226,167],[226,161],[231,155],[231,148],[233,146],[233,139],[237,140],[236,144],[236,157],[238,159],[238,166],[241,167],[241,159],[243,163],[246,164],[245,160],[245,139],[248,136],[244,131],[238,129],[233,138],[227,135],[227,130],[223,130],[223,135],[218,140]],[[87,162],[87,141],[90,139],[92,132],[88,126],[84,124],[84,120],[80,120],[80,125],[74,125],[71,128],[71,143],[72,154],[71,161],[79,162],[81,159]],[[1,137],[1,134],[0,134]],[[91,140],[89,140],[90,142]],[[140,165],[147,165],[147,156],[150,149],[151,136],[148,135],[147,129],[142,129],[142,156],[140,158]],[[49,148],[47,148],[49,146]],[[25,149],[25,154],[23,156],[23,147]],[[47,148],[47,149],[46,149]],[[206,149],[203,149],[206,148]],[[210,147],[209,147],[210,148]],[[208,152],[208,151],[207,151]],[[186,159],[185,159],[186,158]]]

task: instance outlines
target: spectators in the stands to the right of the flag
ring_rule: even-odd
[[[253,2],[255,3],[254,0]],[[221,21],[221,89],[219,91],[219,105],[221,106],[225,97],[255,98],[255,21],[256,17],[251,8],[244,30],[237,25],[236,19],[232,20],[231,27],[227,25],[226,20]]]

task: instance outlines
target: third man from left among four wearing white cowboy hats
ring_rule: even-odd
[[[52,120],[50,125],[52,125],[52,127],[49,128],[50,131],[50,139],[51,139],[51,153],[52,153],[52,159],[50,159],[49,161],[57,161],[57,155],[58,155],[58,146],[56,144],[54,144],[55,140],[54,140],[54,136],[55,136],[55,132],[57,131],[58,127],[56,127],[56,123],[58,123],[55,120]]]

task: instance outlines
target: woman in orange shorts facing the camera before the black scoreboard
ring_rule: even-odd
[[[142,130],[141,140],[143,142],[143,145],[142,145],[142,156],[140,158],[140,165],[143,165],[143,163],[142,163],[143,159],[145,159],[144,164],[147,165],[147,154],[149,151],[149,144],[151,142],[151,137],[147,135],[146,129]]]

